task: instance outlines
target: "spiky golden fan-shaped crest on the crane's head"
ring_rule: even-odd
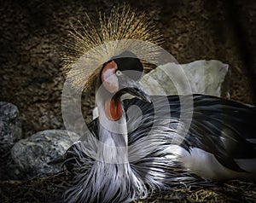
[[[99,75],[102,65],[113,56],[131,51],[143,62],[156,60],[158,44],[162,42],[152,20],[146,14],[137,13],[127,5],[114,7],[110,14],[99,14],[98,26],[94,26],[86,14],[82,32],[73,29],[65,44],[64,71],[76,90],[89,89]]]

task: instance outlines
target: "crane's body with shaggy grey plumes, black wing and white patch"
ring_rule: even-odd
[[[95,165],[97,167],[101,165],[101,168],[106,166],[108,168],[106,171],[110,170],[108,171],[111,174],[110,177],[99,172],[100,175],[98,174],[97,178],[105,179],[106,182],[102,182],[101,187],[94,188],[96,194],[106,188],[110,192],[100,193],[100,198],[95,198],[94,201],[129,201],[146,197],[151,189],[183,188],[195,184],[211,185],[210,180],[255,180],[256,144],[253,131],[256,118],[255,107],[247,107],[215,96],[194,95],[192,122],[187,136],[181,138],[177,135],[177,124],[182,122],[179,96],[167,96],[171,109],[167,113],[166,107],[161,106],[165,103],[162,101],[166,96],[151,96],[151,98],[152,103],[143,102],[137,98],[122,102],[124,107],[122,122],[125,122],[125,131],[128,132],[127,154],[124,151],[111,152],[108,149],[104,152],[107,161],[94,159],[92,162],[84,162],[88,158],[81,152],[84,151],[83,148],[91,145],[90,142],[79,142],[73,146],[76,150],[71,148],[68,151],[68,167],[71,171],[79,170],[79,176],[83,176],[84,180],[90,181],[91,178],[87,177],[85,171],[81,172],[83,168],[89,169],[88,171],[94,175],[99,172],[93,171]],[[164,113],[159,114],[161,118],[155,115],[160,111]],[[183,111],[189,114],[191,109],[183,109]],[[209,120],[211,122],[208,122]],[[96,137],[96,140],[101,136],[99,131],[102,127],[99,125],[99,119],[95,119],[90,124],[90,133]],[[212,125],[215,128],[212,128]],[[124,136],[120,137],[119,134],[104,131],[108,146],[117,147],[117,143],[119,146],[123,143],[122,146],[125,146]],[[175,141],[176,138],[178,142]],[[120,142],[120,139],[123,141]],[[102,147],[99,146],[98,150],[99,148]],[[97,151],[96,148],[94,150]],[[120,158],[117,154],[125,154],[125,156]],[[124,163],[119,163],[120,160],[124,160]],[[117,163],[111,163],[112,161]],[[73,163],[76,164],[73,165]],[[78,180],[77,184],[84,184],[81,179]],[[90,188],[89,185],[82,187],[84,194],[89,193],[90,190],[87,190]],[[120,195],[118,195],[119,191],[121,191]],[[129,192],[125,193],[125,191]]]

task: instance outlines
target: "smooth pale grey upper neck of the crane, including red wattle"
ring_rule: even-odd
[[[97,105],[99,141],[102,144],[99,156],[107,163],[128,163],[128,133],[122,102],[107,97]]]

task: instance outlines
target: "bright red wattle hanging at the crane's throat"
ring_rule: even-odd
[[[117,121],[121,118],[123,113],[122,103],[120,100],[118,102],[115,102],[112,99],[108,99],[105,102],[105,113],[109,120]]]

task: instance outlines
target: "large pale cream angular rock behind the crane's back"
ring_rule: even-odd
[[[229,65],[201,60],[167,63],[144,75],[141,84],[148,95],[183,95],[191,88],[192,93],[229,98],[229,78]]]

